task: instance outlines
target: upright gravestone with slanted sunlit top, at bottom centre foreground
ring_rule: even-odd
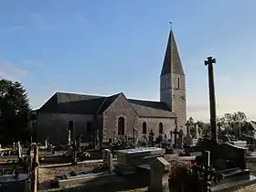
[[[165,171],[170,169],[170,164],[163,157],[156,157],[149,159],[150,165],[150,186],[149,191],[161,192],[163,191],[163,176]]]

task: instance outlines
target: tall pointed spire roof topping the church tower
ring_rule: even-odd
[[[185,74],[182,67],[181,59],[179,57],[178,48],[176,46],[176,38],[173,30],[171,30],[169,33],[161,76],[169,73],[175,73],[180,75]]]

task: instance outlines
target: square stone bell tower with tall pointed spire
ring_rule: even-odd
[[[170,30],[165,59],[160,75],[160,101],[167,103],[177,115],[177,130],[186,133],[187,98],[186,75],[179,57],[173,30]]]

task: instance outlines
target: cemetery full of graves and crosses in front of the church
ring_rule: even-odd
[[[213,63],[209,57],[210,135],[187,122],[187,134],[177,128],[174,141],[155,138],[151,130],[144,146],[139,143],[101,148],[101,158],[69,138],[66,145],[17,142],[1,156],[0,191],[234,191],[256,183],[251,142],[223,135],[216,123]],[[195,135],[191,129],[195,126]],[[133,139],[135,141],[135,139]],[[253,144],[252,144],[253,145]],[[96,151],[96,150],[95,150]],[[99,151],[99,150],[97,150]],[[8,158],[5,158],[7,157]],[[115,158],[114,158],[115,157]],[[249,168],[252,167],[252,169]]]

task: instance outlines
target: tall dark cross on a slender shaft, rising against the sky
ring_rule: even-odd
[[[217,138],[217,125],[216,125],[216,101],[215,101],[213,63],[216,63],[216,59],[213,57],[208,57],[208,59],[205,60],[205,65],[208,66],[208,90],[209,90],[211,140],[214,142],[217,142],[218,138]]]

